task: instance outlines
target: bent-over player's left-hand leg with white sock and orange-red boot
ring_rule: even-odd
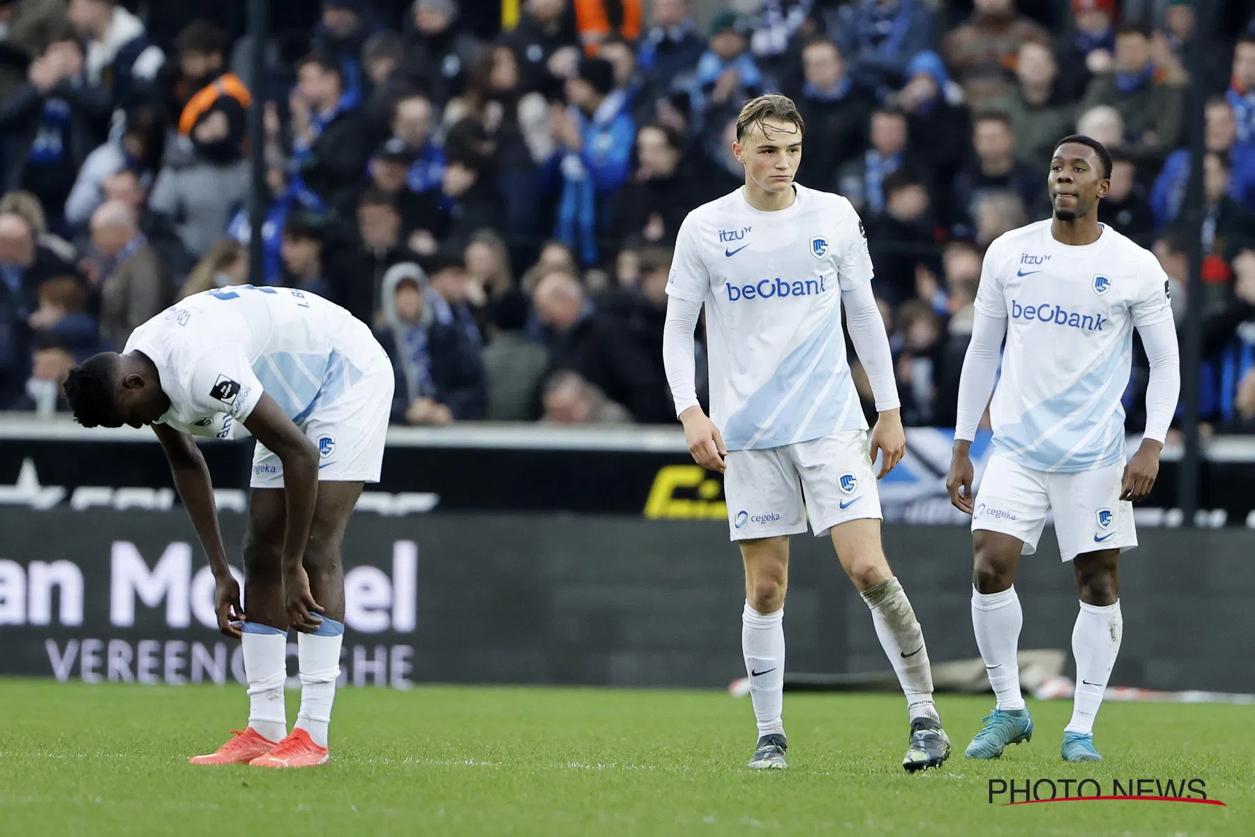
[[[259,458],[271,456],[257,445]],[[254,473],[256,471],[256,466]],[[264,472],[267,473],[269,472]],[[248,684],[248,724],[216,753],[193,764],[247,764],[270,753],[287,734],[287,615],[284,611],[282,546],[286,504],[282,488],[254,488],[243,540],[243,599],[248,602],[240,640]]]

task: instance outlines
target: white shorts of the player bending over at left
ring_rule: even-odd
[[[374,343],[374,350],[376,356],[361,370],[358,383],[326,407],[316,407],[301,424],[318,445],[319,482],[379,482],[395,378],[383,348]],[[284,487],[284,463],[261,442],[252,454],[250,484]]]

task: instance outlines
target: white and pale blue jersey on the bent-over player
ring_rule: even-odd
[[[373,346],[371,346],[373,344]],[[261,394],[300,424],[361,378],[379,351],[370,329],[321,296],[240,285],[196,294],[131,334],[125,351],[156,365],[169,410],[193,435],[247,435]]]

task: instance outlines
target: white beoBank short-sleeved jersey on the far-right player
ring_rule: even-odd
[[[1073,247],[1038,221],[989,246],[976,310],[1007,317],[994,452],[1062,473],[1124,462],[1133,328],[1172,319],[1158,260],[1106,225]]]

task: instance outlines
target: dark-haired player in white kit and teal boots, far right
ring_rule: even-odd
[[[1098,222],[1109,176],[1101,143],[1065,137],[1050,161],[1053,218],[1008,232],[985,253],[946,481],[951,502],[973,516],[971,621],[998,696],[968,758],[996,758],[1033,735],[1015,661],[1023,614],[1014,581],[1053,511],[1081,597],[1062,753],[1068,762],[1102,759],[1093,724],[1119,651],[1117,560],[1137,546],[1131,501],[1155,484],[1181,387],[1167,276],[1153,255]],[[1146,432],[1126,464],[1121,397],[1135,328],[1151,374]],[[993,456],[974,501],[968,450],[986,404]]]

